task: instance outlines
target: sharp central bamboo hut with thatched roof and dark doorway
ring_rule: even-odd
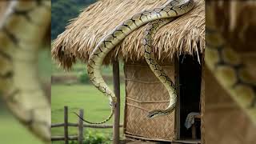
[[[74,18],[66,26],[66,30],[58,35],[52,50],[53,58],[64,69],[70,69],[78,59],[86,63],[100,39],[115,26],[134,14],[152,10],[166,2],[167,0],[98,1],[83,10],[82,14]],[[158,62],[177,86],[178,106],[172,114],[153,119],[146,118],[149,110],[164,109],[169,98],[166,89],[151,72],[143,57],[142,38],[146,26],[128,35],[104,59],[105,65],[114,66],[116,91],[117,62],[124,62],[126,102],[123,121],[126,138],[166,142],[192,138],[192,131],[186,130],[184,126],[186,116],[190,112],[200,114],[204,106],[200,91],[200,62],[205,48],[205,2],[195,2],[196,6],[188,14],[162,27],[153,42]],[[118,122],[117,115],[115,122]],[[194,128],[194,132],[198,133],[194,137],[200,139],[200,122],[198,123],[198,127]],[[195,141],[197,142],[200,140]]]

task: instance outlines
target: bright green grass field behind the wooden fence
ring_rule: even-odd
[[[113,85],[110,85],[113,90]],[[125,98],[125,86],[121,85],[121,122],[123,119],[123,106]],[[64,106],[69,107],[69,122],[78,122],[78,117],[73,114],[79,109],[84,110],[84,118],[91,122],[100,122],[110,114],[108,98],[99,92],[92,85],[52,85],[51,87],[51,118],[52,123],[63,122]],[[107,122],[112,124],[112,120]],[[111,136],[112,129],[89,129],[90,133],[102,133],[108,137]],[[63,135],[63,127],[52,128],[52,135]],[[70,127],[69,134],[77,134],[77,128]],[[86,131],[85,133],[88,133]]]

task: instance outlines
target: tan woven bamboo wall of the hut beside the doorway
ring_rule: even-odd
[[[174,81],[174,65],[164,66],[164,69]],[[150,110],[164,109],[169,104],[167,90],[154,76],[150,67],[141,63],[126,63],[125,75],[126,136],[146,140],[174,140],[174,112],[163,117],[146,118]]]

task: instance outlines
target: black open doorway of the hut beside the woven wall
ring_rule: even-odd
[[[200,55],[200,59],[202,54]],[[180,85],[180,138],[192,137],[191,128],[186,129],[184,123],[190,112],[200,113],[202,65],[194,55],[181,55],[179,58],[179,85]],[[196,137],[201,138],[201,122],[195,121]]]

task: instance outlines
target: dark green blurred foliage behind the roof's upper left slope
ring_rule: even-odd
[[[52,0],[51,39],[57,38],[65,30],[69,20],[76,18],[83,8],[95,0]]]

